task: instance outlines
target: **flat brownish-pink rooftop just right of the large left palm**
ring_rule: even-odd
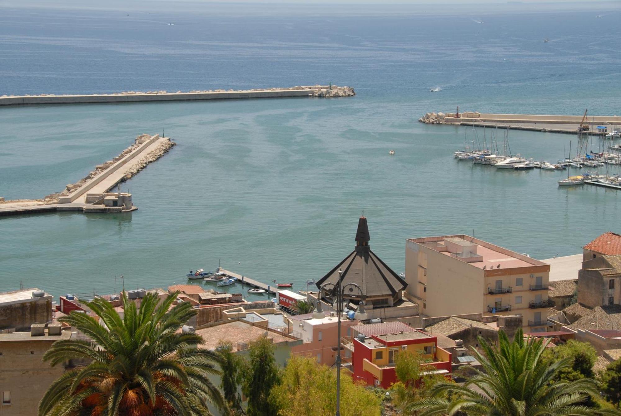
[[[274,344],[295,341],[293,338],[285,337],[276,332],[268,331],[265,328],[255,327],[243,320],[232,320],[209,328],[197,329],[196,333],[201,335],[204,343],[202,348],[214,350],[222,341],[233,344],[233,350],[237,343],[249,343],[258,340],[258,338],[266,335],[273,340]]]

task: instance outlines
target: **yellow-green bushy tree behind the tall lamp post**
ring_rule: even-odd
[[[271,397],[278,402],[282,416],[333,415],[337,409],[337,371],[318,364],[314,358],[294,355],[283,371],[281,382]],[[341,374],[341,415],[379,416],[381,397]]]

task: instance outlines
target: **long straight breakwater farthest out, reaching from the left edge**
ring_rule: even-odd
[[[295,86],[291,88],[249,89],[225,91],[189,91],[168,93],[167,91],[124,91],[113,94],[84,95],[25,95],[0,96],[0,106],[23,106],[28,104],[89,104],[106,102],[144,102],[144,101],[201,101],[215,99],[248,99],[248,98],[288,98],[288,97],[349,97],[356,93],[351,87],[335,85]]]

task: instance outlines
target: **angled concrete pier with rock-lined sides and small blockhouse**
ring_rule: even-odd
[[[54,211],[129,212],[136,210],[132,195],[127,192],[109,192],[149,163],[158,160],[175,145],[168,137],[142,134],[134,144],[112,160],[97,165],[91,173],[78,182],[68,184],[62,192],[42,199],[0,198],[0,215],[34,214]]]

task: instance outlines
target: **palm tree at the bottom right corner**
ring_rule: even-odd
[[[524,340],[521,328],[513,342],[499,331],[499,348],[482,337],[478,340],[485,354],[474,353],[484,371],[477,371],[463,386],[440,382],[432,387],[432,397],[406,405],[404,410],[420,416],[619,415],[616,410],[592,409],[583,404],[589,394],[598,394],[592,379],[554,381],[560,369],[571,365],[570,359],[555,363],[542,359],[547,343],[535,338]],[[444,398],[447,395],[453,399]]]

